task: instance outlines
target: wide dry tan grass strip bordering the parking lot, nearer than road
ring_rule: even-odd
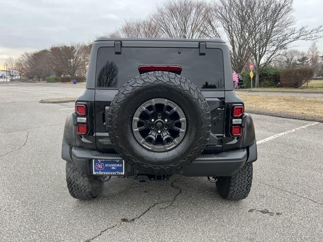
[[[283,113],[310,118],[323,118],[323,99],[303,98],[298,96],[255,95],[236,93],[243,99],[248,111]]]

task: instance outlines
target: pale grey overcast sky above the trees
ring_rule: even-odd
[[[147,16],[160,0],[0,0],[0,69],[9,56],[53,44],[88,42],[125,19]],[[323,24],[323,0],[294,0],[297,25]],[[307,51],[310,41],[297,42]],[[317,41],[323,53],[323,39]]]

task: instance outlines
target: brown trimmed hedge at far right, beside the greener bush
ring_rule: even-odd
[[[289,68],[281,71],[281,87],[300,87],[314,75],[312,68]]]

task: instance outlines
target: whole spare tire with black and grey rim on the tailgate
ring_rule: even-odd
[[[200,90],[170,72],[148,72],[120,88],[109,136],[125,162],[147,173],[179,172],[203,151],[210,111]]]

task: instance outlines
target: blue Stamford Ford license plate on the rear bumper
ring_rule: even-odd
[[[94,175],[123,175],[125,162],[123,160],[93,160]]]

